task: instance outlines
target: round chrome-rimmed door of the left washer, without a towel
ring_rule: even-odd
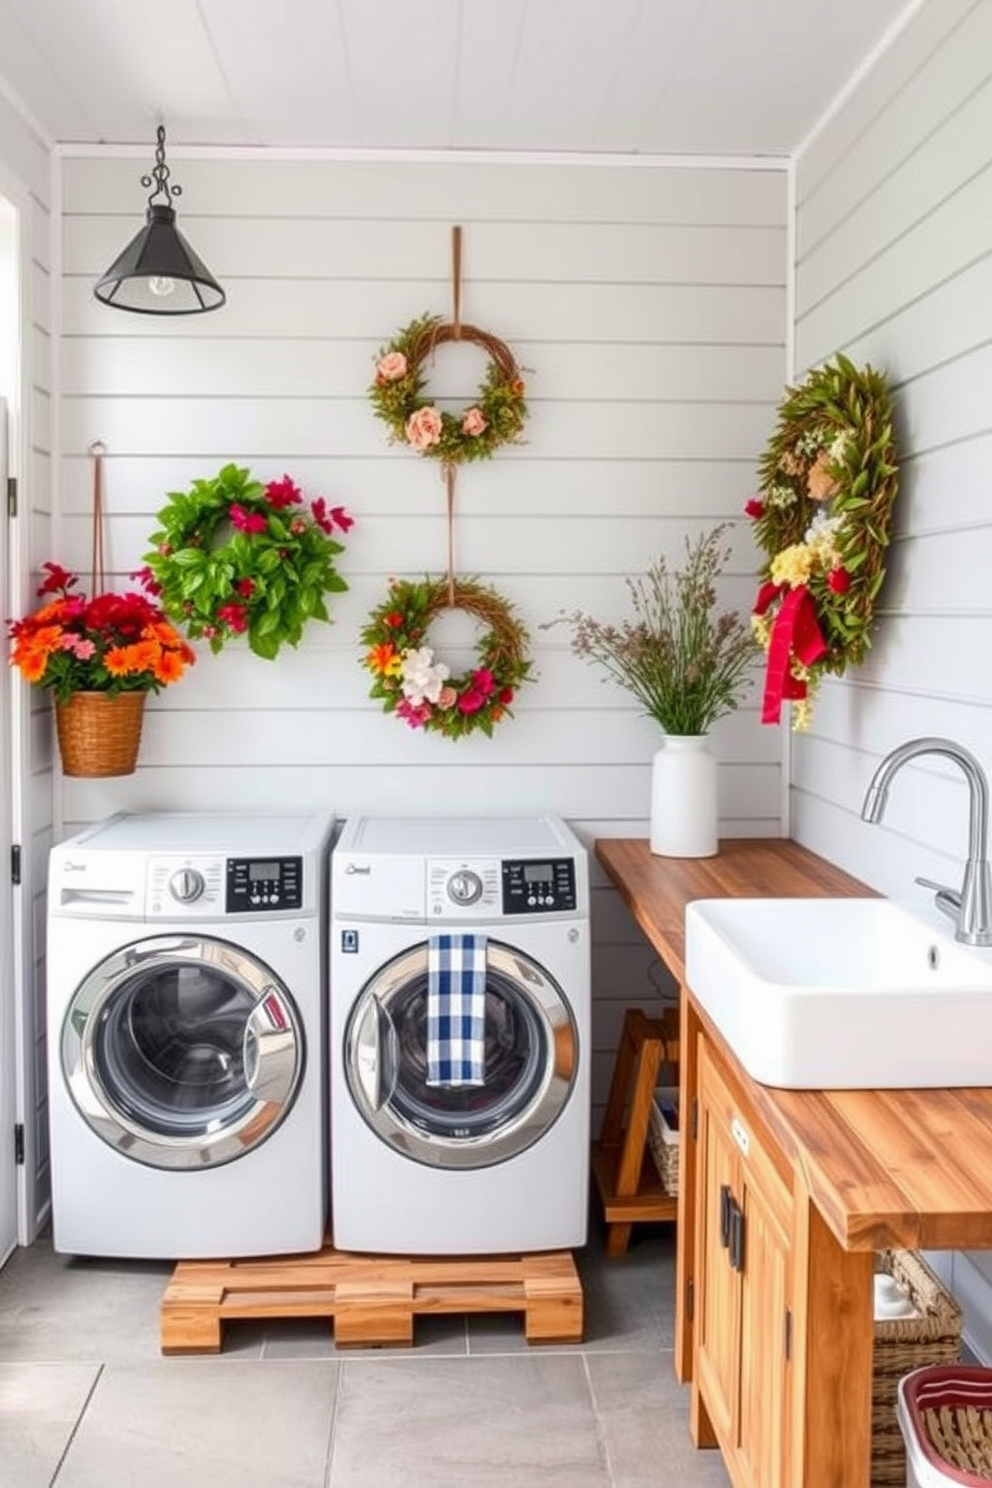
[[[207,936],[107,957],[62,1024],[62,1074],[83,1120],[153,1168],[214,1168],[257,1147],[293,1103],[303,1049],[272,970]]]

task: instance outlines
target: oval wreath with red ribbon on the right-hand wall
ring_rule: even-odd
[[[788,388],[759,475],[745,512],[769,555],[753,615],[767,655],[761,722],[778,723],[788,699],[805,729],[822,674],[842,676],[872,644],[898,488],[885,378],[837,356]]]

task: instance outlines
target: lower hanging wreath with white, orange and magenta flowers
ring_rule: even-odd
[[[476,665],[452,677],[425,644],[431,620],[443,610],[473,615],[485,626]],[[516,689],[526,682],[528,632],[507,601],[477,579],[391,579],[390,592],[361,631],[363,665],[373,676],[370,698],[412,729],[460,740],[476,729],[489,738],[510,716]]]

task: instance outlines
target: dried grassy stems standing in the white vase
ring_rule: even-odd
[[[628,577],[634,618],[620,625],[576,610],[543,628],[573,628],[576,656],[602,667],[604,680],[631,692],[666,734],[708,734],[733,713],[751,683],[754,640],[736,610],[717,609],[715,580],[730,549],[729,522],[686,537],[686,562],[672,570],[657,558],[645,574]]]

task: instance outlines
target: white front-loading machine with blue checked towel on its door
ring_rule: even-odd
[[[350,820],[332,854],[332,1228],[341,1250],[582,1245],[589,869],[553,815]],[[439,1079],[439,960],[467,946],[473,1082]],[[479,1001],[480,998],[480,1001]],[[458,1071],[460,1077],[464,1068]]]

